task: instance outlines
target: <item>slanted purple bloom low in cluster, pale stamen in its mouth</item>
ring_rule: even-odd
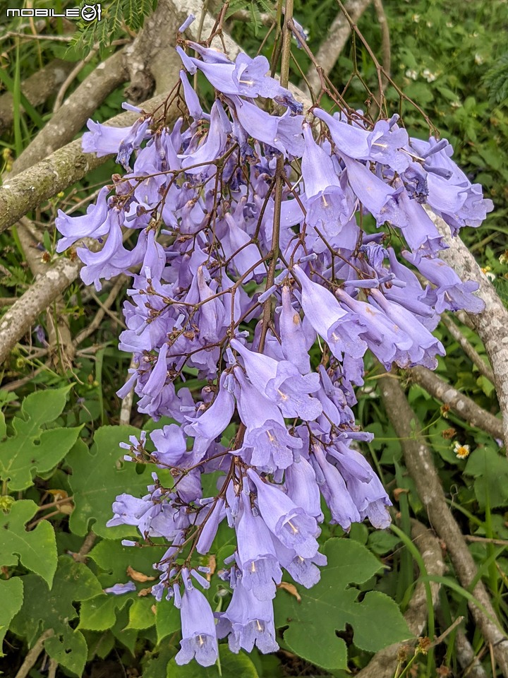
[[[263,482],[253,469],[248,469],[247,475],[258,490],[261,518],[270,532],[299,556],[312,558],[318,549],[315,537],[319,528],[315,518],[308,516],[275,485]]]

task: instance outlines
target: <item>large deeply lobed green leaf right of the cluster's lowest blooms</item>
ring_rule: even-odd
[[[368,581],[380,562],[358,542],[330,539],[323,552],[328,564],[321,581],[310,590],[297,586],[301,596],[282,591],[275,599],[276,626],[287,626],[284,642],[299,657],[328,670],[347,667],[346,643],[335,631],[353,627],[353,643],[377,652],[411,636],[397,604],[384,593],[371,591],[358,602],[351,582]]]

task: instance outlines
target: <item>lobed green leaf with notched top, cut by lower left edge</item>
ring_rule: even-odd
[[[37,504],[29,499],[15,501],[8,513],[0,512],[0,565],[16,566],[18,560],[28,570],[52,585],[56,570],[56,540],[52,525],[41,521],[28,532],[25,524],[37,513]]]

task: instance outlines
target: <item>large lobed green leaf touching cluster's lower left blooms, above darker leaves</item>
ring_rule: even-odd
[[[68,454],[66,461],[73,470],[69,482],[75,504],[69,527],[76,535],[84,536],[91,522],[95,534],[106,539],[138,535],[137,528],[131,525],[106,527],[113,517],[111,504],[116,496],[123,492],[143,496],[150,482],[146,480],[149,475],[146,466],[143,473],[138,474],[135,463],[119,460],[122,456],[119,444],[136,434],[139,435],[139,430],[131,426],[103,426],[95,433],[90,452],[78,441]]]

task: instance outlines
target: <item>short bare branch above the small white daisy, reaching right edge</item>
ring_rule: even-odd
[[[425,391],[437,400],[449,405],[449,408],[468,424],[488,432],[493,438],[503,438],[503,426],[500,419],[480,408],[474,400],[464,396],[451,384],[442,381],[433,371],[418,365],[409,370],[409,375],[412,381],[425,388]]]

